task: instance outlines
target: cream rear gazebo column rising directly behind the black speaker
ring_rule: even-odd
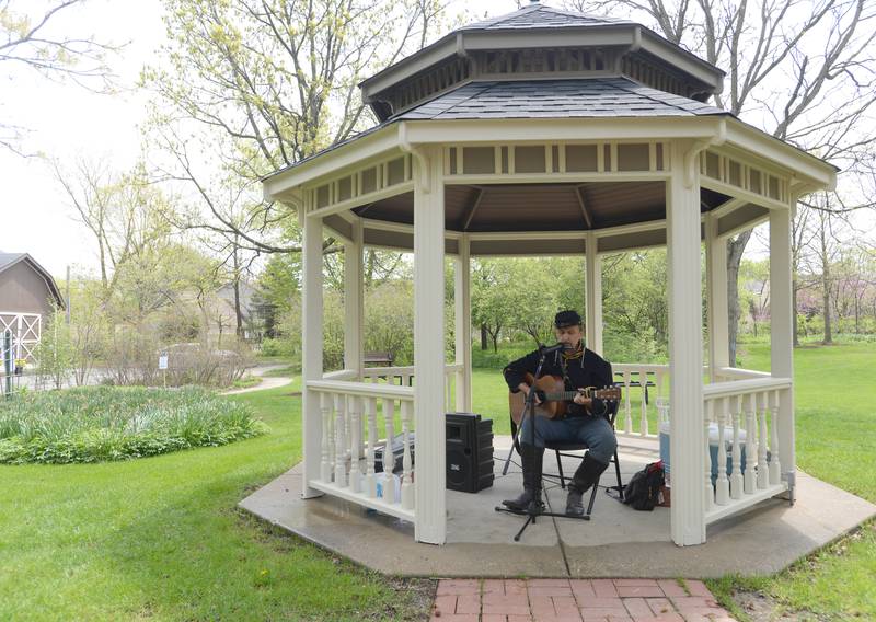
[[[463,233],[459,241],[459,253],[453,265],[453,306],[456,364],[462,366],[457,375],[457,411],[472,411],[472,292],[471,292],[471,242]]]

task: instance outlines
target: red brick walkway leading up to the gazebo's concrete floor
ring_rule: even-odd
[[[441,579],[434,622],[733,622],[688,579]]]

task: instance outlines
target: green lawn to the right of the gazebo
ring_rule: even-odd
[[[770,369],[766,344],[741,346],[742,366]],[[873,447],[876,344],[808,345],[794,352],[797,465],[876,503]],[[876,522],[774,577],[711,584],[716,592],[756,589],[796,619],[876,620]]]

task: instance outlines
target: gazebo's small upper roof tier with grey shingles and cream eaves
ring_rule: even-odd
[[[359,87],[384,122],[472,80],[618,76],[706,102],[721,92],[724,72],[641,24],[535,2],[450,33]]]

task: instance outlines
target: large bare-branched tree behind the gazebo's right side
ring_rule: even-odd
[[[840,164],[872,172],[876,7],[867,0],[569,0],[577,10],[616,9],[672,43],[728,69],[715,103],[772,136]],[[616,14],[616,11],[611,11]],[[761,112],[762,115],[758,115]],[[864,183],[872,178],[864,176]],[[873,194],[862,193],[862,196]],[[872,199],[842,209],[872,207]],[[736,360],[738,275],[751,237],[728,242],[729,360]]]

